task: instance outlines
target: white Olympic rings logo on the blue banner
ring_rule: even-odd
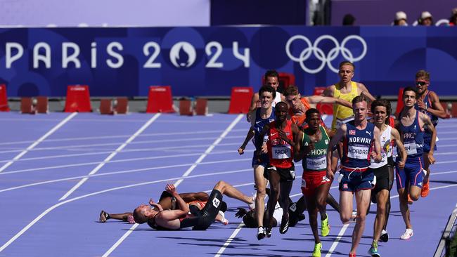
[[[321,48],[318,48],[318,44],[325,39],[329,39],[333,42],[333,44],[335,44],[335,47],[328,51],[327,55],[322,51]],[[357,57],[354,57],[352,52],[345,47],[347,41],[352,39],[358,40],[363,47],[362,53]],[[292,53],[290,53],[290,45],[295,40],[302,40],[308,45],[308,47],[304,48],[304,50],[300,53],[299,57],[296,57],[292,55]],[[343,39],[343,41],[341,42],[341,45],[338,43],[335,37],[332,37],[330,35],[322,35],[321,37],[318,37],[316,41],[314,41],[314,44],[311,44],[311,41],[309,41],[309,39],[307,37],[304,37],[303,35],[295,35],[287,41],[287,44],[285,44],[285,53],[287,53],[289,58],[294,62],[300,62],[300,66],[302,67],[304,72],[310,74],[316,74],[318,72],[321,72],[321,70],[323,70],[323,68],[326,65],[330,70],[337,73],[338,69],[333,67],[332,61],[335,60],[340,53],[345,58],[345,60],[348,60],[349,62],[357,62],[361,60],[363,57],[365,57],[366,49],[367,47],[365,40],[363,40],[363,38],[358,35],[349,35],[345,37],[345,39]],[[309,67],[306,67],[304,65],[304,62],[309,59],[311,54],[314,54],[314,56],[316,56],[316,59],[321,61],[321,65],[319,65],[319,67],[317,67],[316,69],[310,69]]]

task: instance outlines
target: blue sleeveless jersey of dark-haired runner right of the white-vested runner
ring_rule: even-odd
[[[399,123],[399,129],[403,135],[403,145],[410,157],[420,157],[423,154],[424,147],[424,130],[419,123],[419,112],[416,111],[416,118],[410,126],[404,126]]]

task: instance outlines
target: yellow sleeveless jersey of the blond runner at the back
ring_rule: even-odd
[[[352,103],[352,99],[359,95],[359,88],[357,88],[357,84],[354,81],[351,81],[351,87],[351,92],[341,93],[340,85],[335,84],[335,92],[333,93],[333,97],[341,98],[347,100],[349,103]],[[346,123],[351,119],[354,119],[354,112],[351,108],[342,105],[333,105],[332,129],[337,129],[337,127],[341,126],[342,123]]]

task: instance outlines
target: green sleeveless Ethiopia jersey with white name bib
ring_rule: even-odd
[[[302,161],[303,171],[326,171],[327,170],[327,150],[330,138],[327,131],[322,126],[319,126],[322,138],[314,143],[314,150],[310,150]],[[311,138],[307,133],[303,133],[302,145],[304,147],[311,143]]]

